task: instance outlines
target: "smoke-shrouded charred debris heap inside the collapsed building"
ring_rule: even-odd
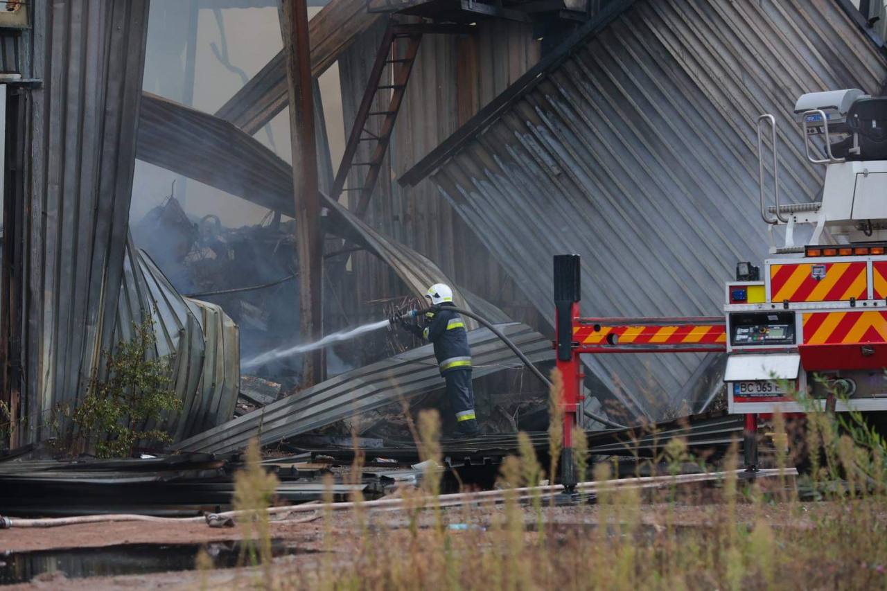
[[[163,269],[170,283],[184,296],[220,305],[239,326],[240,359],[294,343],[299,335],[298,269],[294,267],[294,222],[269,214],[261,224],[229,228],[216,216],[189,217],[174,196],[151,209],[132,227],[140,248]],[[353,251],[342,252],[341,256]],[[327,258],[337,256],[335,252]],[[407,289],[403,288],[403,293]],[[389,302],[364,303],[367,310],[384,317],[393,305],[408,299],[394,296]],[[334,327],[352,322],[349,311],[327,305],[328,323]],[[366,312],[365,312],[366,313]],[[344,374],[356,367],[401,354],[421,343],[403,332],[380,331],[326,350],[329,375]],[[501,363],[501,362],[500,362]],[[511,360],[493,369],[475,384],[478,404],[490,432],[518,428],[545,429],[546,390],[524,380],[519,364]],[[233,416],[261,409],[301,389],[300,356],[275,359],[261,366],[245,367]],[[441,403],[440,392],[411,399],[412,413]],[[322,435],[361,436],[394,440],[409,439],[411,433],[404,407],[393,401],[388,406],[334,422],[320,429]]]

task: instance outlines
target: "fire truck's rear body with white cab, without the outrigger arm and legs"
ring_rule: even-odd
[[[836,412],[887,410],[887,98],[856,89],[812,92],[797,100],[795,114],[807,159],[825,167],[825,185],[821,201],[780,202],[776,120],[761,115],[760,203],[771,257],[763,273],[738,264],[736,280],[726,284],[729,411],[805,410],[783,391],[786,384],[822,405],[843,393],[848,402],[838,399]],[[773,205],[766,206],[768,188]],[[781,246],[773,240],[777,226],[784,228]],[[808,238],[797,240],[802,234]]]

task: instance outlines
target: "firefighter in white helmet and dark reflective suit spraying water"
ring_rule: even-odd
[[[437,365],[446,382],[446,395],[456,414],[459,435],[477,434],[475,393],[471,390],[471,349],[465,322],[452,308],[452,290],[443,283],[428,288],[425,295],[436,311],[428,311],[420,324],[403,322],[412,334],[434,343]]]

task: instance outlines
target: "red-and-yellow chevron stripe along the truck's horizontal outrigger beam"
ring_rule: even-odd
[[[573,327],[573,340],[580,345],[726,343],[726,327],[722,324],[625,325],[595,330],[593,325],[583,325]]]

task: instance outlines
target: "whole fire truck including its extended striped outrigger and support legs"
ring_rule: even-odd
[[[887,411],[887,98],[857,89],[812,92],[797,99],[794,114],[807,159],[825,167],[821,199],[781,202],[776,118],[762,114],[760,215],[770,257],[761,265],[737,264],[735,280],[726,282],[724,316],[583,318],[578,256],[554,257],[554,344],[566,376],[564,461],[569,425],[580,412],[585,353],[726,351],[728,412],[745,415],[745,463],[752,471],[758,416],[806,410],[789,390],[805,392],[822,408],[860,410],[880,422]]]

